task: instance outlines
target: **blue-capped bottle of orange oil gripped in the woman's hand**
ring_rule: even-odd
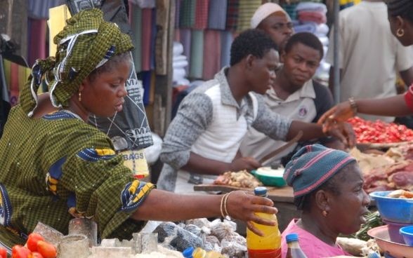
[[[267,196],[267,188],[258,186],[254,189],[256,196]],[[264,219],[277,221],[277,217],[268,213],[256,213],[257,216]],[[264,233],[264,236],[258,236],[256,233],[247,229],[247,249],[249,258],[278,258],[281,257],[281,233],[278,224],[275,226],[265,226],[254,223],[257,229]]]

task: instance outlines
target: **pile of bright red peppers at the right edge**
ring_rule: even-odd
[[[366,121],[358,116],[348,119],[358,143],[392,143],[413,141],[413,130],[405,125],[384,121]]]

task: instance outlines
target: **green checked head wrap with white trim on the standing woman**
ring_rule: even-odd
[[[133,48],[131,38],[114,23],[103,20],[99,9],[74,15],[53,41],[58,46],[55,57],[36,61],[20,93],[20,104],[29,116],[37,106],[37,89],[43,80],[53,106],[67,107],[70,97],[94,69]]]

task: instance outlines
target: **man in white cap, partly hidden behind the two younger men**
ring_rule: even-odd
[[[251,28],[262,29],[277,44],[279,51],[294,32],[288,13],[275,3],[265,3],[256,9]]]

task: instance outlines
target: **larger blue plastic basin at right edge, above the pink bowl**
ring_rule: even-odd
[[[370,197],[376,201],[376,207],[382,219],[387,222],[413,224],[413,198],[391,198],[391,191],[374,191]]]

